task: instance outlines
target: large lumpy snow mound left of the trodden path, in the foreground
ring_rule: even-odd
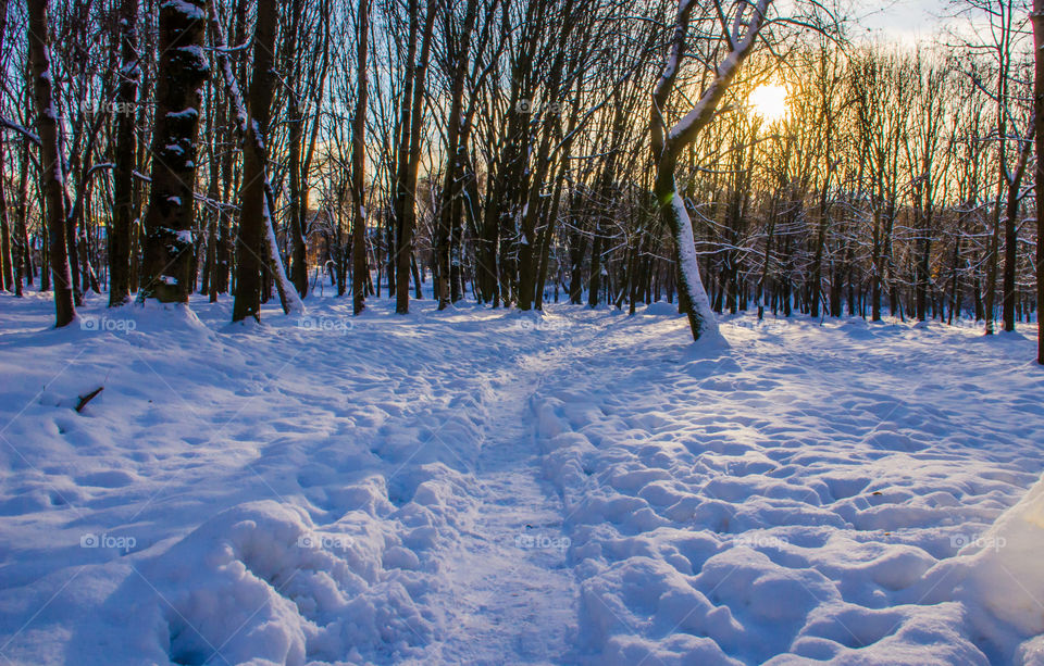
[[[310,659],[403,655],[432,633],[410,592],[385,570],[384,538],[364,523],[318,531],[273,501],[214,516],[141,574],[165,603],[171,659],[297,666]]]

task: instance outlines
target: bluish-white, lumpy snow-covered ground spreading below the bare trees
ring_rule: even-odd
[[[0,664],[1044,664],[1029,327],[307,304],[0,297]]]

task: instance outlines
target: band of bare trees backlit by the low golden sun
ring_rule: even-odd
[[[1040,310],[1026,0],[0,0],[0,268],[110,305]],[[750,103],[785,89],[781,113]],[[1035,224],[1034,224],[1035,223]]]

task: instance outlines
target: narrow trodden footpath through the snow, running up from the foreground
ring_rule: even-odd
[[[539,381],[539,375],[535,380]],[[440,566],[447,626],[426,658],[448,664],[561,663],[575,630],[576,583],[567,565],[561,502],[539,479],[530,424],[532,369],[507,381],[475,465],[471,527]]]

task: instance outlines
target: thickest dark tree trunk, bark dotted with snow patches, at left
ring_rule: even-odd
[[[196,135],[209,71],[203,52],[204,18],[203,0],[166,0],[160,5],[152,186],[145,217],[139,300],[187,303],[196,281]]]

